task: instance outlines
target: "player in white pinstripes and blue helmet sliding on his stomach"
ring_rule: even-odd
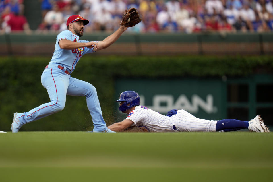
[[[108,126],[112,131],[124,131],[137,126],[146,132],[179,132],[179,131],[205,131],[228,132],[247,128],[249,131],[270,132],[260,116],[250,121],[223,119],[219,121],[199,119],[185,110],[171,110],[167,116],[140,106],[140,96],[134,91],[125,91],[120,95],[119,110],[128,114],[127,118],[119,123]]]

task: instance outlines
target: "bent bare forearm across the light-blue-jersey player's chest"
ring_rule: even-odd
[[[96,48],[98,49],[98,43],[96,42],[73,42],[71,40],[62,39],[59,41],[59,46],[61,49],[74,50],[80,47]]]

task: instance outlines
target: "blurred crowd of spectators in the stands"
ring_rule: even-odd
[[[138,9],[142,22],[132,32],[267,32],[273,29],[272,0],[40,0],[37,32],[67,30],[78,14],[89,20],[85,31],[113,31],[125,8]],[[0,0],[2,32],[30,31],[24,0]]]

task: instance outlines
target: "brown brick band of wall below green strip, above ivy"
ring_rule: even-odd
[[[114,43],[97,55],[272,54],[273,43]],[[54,43],[0,44],[0,55],[52,56]]]

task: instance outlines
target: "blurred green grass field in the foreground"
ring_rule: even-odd
[[[273,133],[0,134],[1,182],[271,181],[272,170]]]

